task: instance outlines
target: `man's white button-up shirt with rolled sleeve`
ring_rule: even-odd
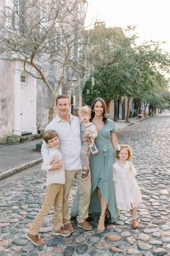
[[[64,121],[58,115],[47,125],[45,131],[48,129],[54,129],[58,132],[60,140],[61,154],[63,155],[63,161],[65,169],[68,171],[81,170],[81,137],[80,137],[80,120],[77,116],[71,115],[71,124],[68,121]],[[43,161],[48,157],[49,148],[46,143],[42,144],[42,158]]]

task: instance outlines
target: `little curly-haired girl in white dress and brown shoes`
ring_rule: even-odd
[[[132,149],[129,145],[119,145],[115,153],[117,162],[113,164],[113,179],[117,208],[119,210],[131,210],[133,213],[132,228],[138,229],[137,207],[142,197],[135,179],[137,172],[131,162]]]

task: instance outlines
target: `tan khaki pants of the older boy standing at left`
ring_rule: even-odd
[[[45,217],[54,207],[54,229],[58,231],[63,226],[63,184],[50,184],[46,187],[45,200],[42,203],[41,209],[28,231],[33,236],[40,231],[40,226],[45,220]]]

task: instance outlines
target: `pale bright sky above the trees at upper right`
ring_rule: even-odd
[[[170,54],[169,14],[170,0],[87,0],[86,25],[104,21],[107,27],[137,25],[141,40],[166,41],[164,48]]]

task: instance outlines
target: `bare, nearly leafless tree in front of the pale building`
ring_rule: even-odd
[[[0,58],[23,61],[24,71],[42,80],[54,99],[68,79],[68,69],[77,74],[84,72],[78,57],[84,40],[83,1],[32,0],[23,8],[19,3],[22,2],[14,1],[13,7],[1,12]],[[13,54],[9,57],[10,52]],[[26,64],[33,69],[28,69]],[[55,88],[48,81],[51,65],[55,70]]]

